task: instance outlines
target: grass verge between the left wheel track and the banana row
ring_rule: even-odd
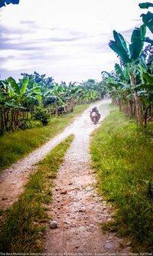
[[[15,133],[5,133],[0,136],[0,170],[10,166],[60,133],[73,120],[73,117],[76,117],[86,107],[87,105],[80,105],[74,109],[73,113],[52,117],[48,126],[18,130]]]

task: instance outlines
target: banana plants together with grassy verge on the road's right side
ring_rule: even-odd
[[[149,2],[139,4],[152,8]],[[141,15],[130,43],[113,31],[109,47],[119,57],[114,71],[102,72],[102,84],[113,110],[94,133],[93,169],[99,192],[114,205],[112,222],[104,229],[127,235],[133,251],[153,250],[153,13]],[[123,113],[122,113],[123,112]]]

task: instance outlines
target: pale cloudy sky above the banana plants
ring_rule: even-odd
[[[129,41],[142,24],[140,2],[20,0],[1,8],[1,78],[37,71],[57,82],[100,80],[118,61],[108,45],[113,29]]]

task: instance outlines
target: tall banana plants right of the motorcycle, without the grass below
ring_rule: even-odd
[[[141,3],[140,8],[152,8],[152,3]],[[153,120],[153,40],[146,37],[146,31],[153,33],[153,13],[142,14],[142,26],[132,31],[128,43],[122,34],[113,31],[114,40],[109,47],[119,57],[112,72],[103,71],[103,86],[128,117],[137,120],[138,125],[147,126]]]

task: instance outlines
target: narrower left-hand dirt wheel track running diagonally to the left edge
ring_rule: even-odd
[[[96,106],[100,107],[106,103],[109,103],[109,100],[102,100],[94,103],[94,105],[96,104]],[[75,118],[73,123],[67,126],[59,135],[55,136],[54,139],[50,139],[43,146],[34,150],[33,153],[19,160],[2,173],[0,178],[0,208],[5,209],[18,199],[18,195],[23,192],[24,184],[28,181],[29,174],[34,170],[34,164],[44,159],[47,153],[50,153],[50,150],[57,146],[63,139],[67,138],[70,134],[77,135],[80,133],[81,135],[81,133],[86,133],[89,136],[94,128],[89,117],[89,111],[92,106],[85,110],[82,115]],[[108,110],[104,114],[106,115],[106,113],[108,113]]]

